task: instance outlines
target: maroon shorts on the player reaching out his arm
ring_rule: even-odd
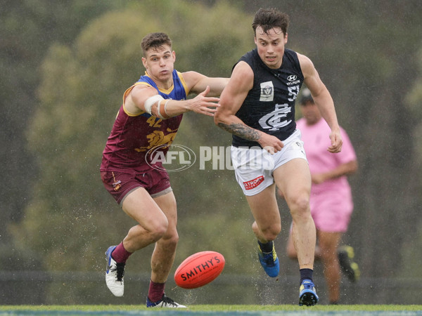
[[[133,169],[101,171],[101,180],[103,180],[106,190],[120,206],[122,206],[124,198],[138,187],[143,187],[151,197],[159,197],[172,192],[170,178],[165,170],[151,168],[141,172]]]

